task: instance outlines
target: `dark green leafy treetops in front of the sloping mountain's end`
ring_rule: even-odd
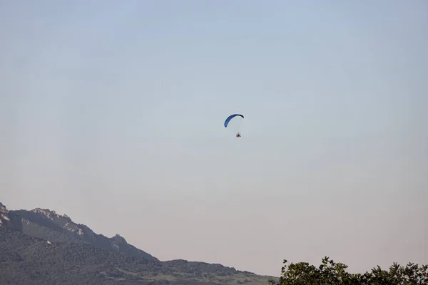
[[[407,266],[392,264],[389,270],[376,266],[365,274],[351,274],[347,265],[336,263],[329,257],[316,267],[307,262],[287,265],[284,260],[280,285],[427,285],[428,265],[409,263]],[[269,281],[271,285],[277,284]]]

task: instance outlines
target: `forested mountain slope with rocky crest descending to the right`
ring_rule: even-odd
[[[220,264],[159,261],[116,234],[104,237],[49,209],[0,203],[1,284],[267,284]]]

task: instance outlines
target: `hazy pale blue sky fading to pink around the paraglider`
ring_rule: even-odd
[[[428,264],[427,14],[0,0],[0,202],[257,274]]]

